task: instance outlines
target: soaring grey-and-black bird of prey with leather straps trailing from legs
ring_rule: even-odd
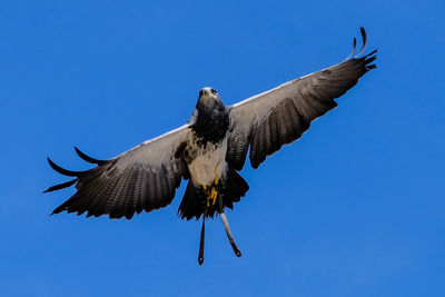
[[[52,214],[87,211],[87,217],[130,219],[135,212],[168,206],[185,179],[188,184],[178,216],[187,220],[202,218],[199,265],[204,261],[205,221],[216,215],[221,218],[235,255],[240,257],[224,211],[226,207],[233,209],[249,189],[238,174],[248,151],[251,167],[258,168],[283,145],[300,138],[314,119],[337,106],[334,99],[376,67],[376,50],[362,56],[366,47],[363,28],[360,33],[363,47],[357,55],[354,38],[353,51],[343,62],[234,106],[225,106],[215,89],[201,89],[186,125],[116,158],[98,160],[76,148],[80,158],[96,165],[89,170],[67,170],[48,158],[52,169],[73,179],[46,191],[72,185],[77,188]]]

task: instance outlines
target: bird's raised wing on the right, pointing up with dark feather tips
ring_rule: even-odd
[[[339,65],[288,81],[275,89],[230,107],[227,162],[240,170],[250,147],[250,165],[257,168],[283,145],[301,137],[310,122],[335,108],[340,97],[368,70],[375,68],[373,51],[359,57],[366,47],[366,32],[360,28],[363,47]]]

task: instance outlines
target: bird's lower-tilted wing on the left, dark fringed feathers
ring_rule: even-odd
[[[185,125],[110,160],[93,159],[76,148],[83,160],[97,164],[97,167],[86,171],[63,169],[48,158],[52,169],[76,178],[46,191],[73,184],[77,188],[77,192],[52,214],[67,210],[81,215],[88,211],[87,217],[109,215],[110,218],[126,216],[130,219],[135,212],[148,212],[169,205],[181,178],[187,175],[180,150],[189,131],[190,128]]]

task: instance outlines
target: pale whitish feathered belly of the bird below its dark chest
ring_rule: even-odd
[[[191,162],[188,165],[190,177],[195,186],[211,186],[215,179],[226,175],[227,140],[218,143],[207,142],[205,146],[191,143]]]

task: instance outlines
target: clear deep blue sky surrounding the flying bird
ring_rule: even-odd
[[[1,296],[445,296],[443,1],[8,1],[0,6]],[[342,61],[366,28],[378,68],[258,170],[219,220],[48,216],[86,169]]]

